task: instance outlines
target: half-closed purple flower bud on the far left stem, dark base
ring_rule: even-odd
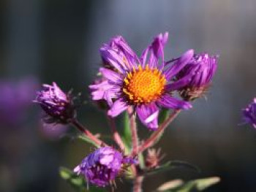
[[[46,112],[45,123],[69,123],[75,116],[75,107],[69,94],[61,91],[56,82],[53,85],[42,85],[34,102],[39,103]]]

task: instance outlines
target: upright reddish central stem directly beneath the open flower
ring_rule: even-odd
[[[132,131],[132,154],[138,155],[139,151],[139,139],[138,139],[138,131],[135,119],[135,113],[132,110],[132,107],[128,107],[128,115],[129,115],[129,126]]]

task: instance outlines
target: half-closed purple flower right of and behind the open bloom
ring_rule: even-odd
[[[189,83],[184,83],[184,87],[180,89],[181,96],[188,101],[202,96],[211,84],[216,69],[217,56],[207,53],[195,54],[184,69],[176,75],[176,80],[180,81],[194,73]]]

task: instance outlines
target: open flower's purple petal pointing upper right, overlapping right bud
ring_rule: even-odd
[[[194,50],[188,50],[186,53],[181,55],[180,58],[178,58],[178,61],[176,61],[172,66],[170,66],[169,69],[165,71],[165,77],[167,80],[170,80],[171,77],[178,74],[178,72],[181,71],[181,69],[186,66],[189,61],[192,59],[194,55]]]

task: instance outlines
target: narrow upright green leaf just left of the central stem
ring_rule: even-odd
[[[126,147],[126,153],[129,153],[132,147],[132,133],[131,128],[129,127],[129,115],[128,112],[124,113],[124,129],[123,133],[121,135],[121,138],[124,142],[124,145]]]

